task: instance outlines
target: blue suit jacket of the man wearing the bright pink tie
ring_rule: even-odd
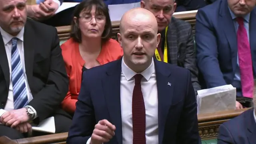
[[[250,13],[250,47],[256,70],[256,8]],[[232,84],[237,64],[237,38],[227,0],[217,0],[196,14],[197,63],[206,88]],[[204,85],[202,83],[202,85]],[[236,86],[235,86],[236,87]]]

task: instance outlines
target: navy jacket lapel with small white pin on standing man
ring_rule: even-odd
[[[170,69],[163,66],[163,62],[159,62],[158,60],[154,59],[154,63],[158,90],[158,142],[159,144],[162,144],[166,119],[172,104],[174,90],[174,86],[170,86],[168,83],[174,84],[174,79],[170,78]]]

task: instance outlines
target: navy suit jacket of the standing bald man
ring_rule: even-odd
[[[121,62],[122,59],[116,60],[84,72],[67,144],[86,143],[95,124],[102,119],[116,126],[115,136],[104,144],[122,144]],[[159,144],[199,144],[197,104],[190,71],[158,60],[154,63]]]

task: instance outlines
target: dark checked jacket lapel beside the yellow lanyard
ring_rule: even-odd
[[[173,18],[172,18],[173,21]],[[176,35],[176,28],[174,26],[174,22],[170,22],[168,30],[167,30],[167,42],[169,48],[169,54],[171,60],[171,64],[177,65],[177,53],[178,53],[178,46],[177,46],[177,35]]]

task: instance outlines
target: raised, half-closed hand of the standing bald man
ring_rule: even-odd
[[[108,142],[114,135],[116,127],[108,120],[100,120],[92,132],[90,144],[102,144]]]

